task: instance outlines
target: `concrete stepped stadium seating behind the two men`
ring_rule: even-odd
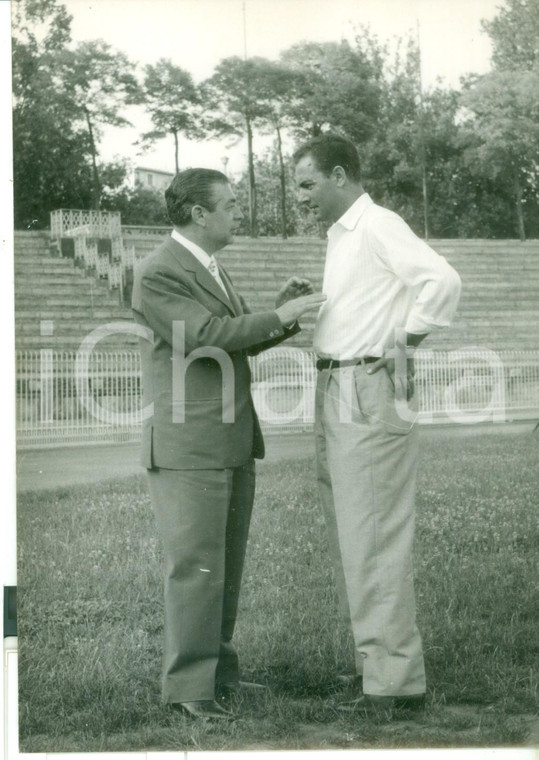
[[[152,251],[164,234],[130,228],[124,238],[135,245],[136,258]],[[491,349],[534,350],[539,323],[539,241],[433,240],[463,280],[454,324],[433,334],[425,348],[452,350],[476,345]],[[15,233],[16,342],[19,349],[76,350],[84,336],[107,322],[131,323],[131,311],[116,290],[76,267],[72,260],[49,254],[46,233]],[[218,253],[237,289],[253,310],[271,310],[280,286],[292,274],[321,287],[324,240],[240,238]],[[54,333],[40,335],[42,320]],[[302,319],[302,332],[288,345],[310,347],[314,315]],[[136,338],[108,338],[103,348],[132,348]]]

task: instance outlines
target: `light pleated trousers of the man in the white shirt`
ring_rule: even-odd
[[[319,373],[319,492],[364,693],[422,694],[412,567],[418,431],[397,412],[387,371],[369,375],[369,366]]]

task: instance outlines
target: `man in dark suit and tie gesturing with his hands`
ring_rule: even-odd
[[[163,698],[230,719],[216,694],[257,687],[239,680],[232,645],[254,458],[264,456],[247,355],[297,332],[324,296],[292,278],[274,311],[250,313],[213,258],[243,217],[226,176],[188,169],[165,198],[172,236],[133,287],[135,320],[152,336],[141,340],[144,405],[153,404],[142,458],[165,550]]]

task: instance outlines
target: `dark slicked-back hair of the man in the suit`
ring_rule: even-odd
[[[193,206],[215,209],[213,186],[228,184],[226,175],[215,169],[185,169],[176,174],[165,190],[167,211],[172,224],[184,227],[191,221]]]

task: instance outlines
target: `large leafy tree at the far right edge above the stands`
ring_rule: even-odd
[[[494,71],[463,82],[464,159],[509,200],[523,240],[527,230],[537,234],[539,210],[539,0],[506,0],[482,26],[492,41]]]

